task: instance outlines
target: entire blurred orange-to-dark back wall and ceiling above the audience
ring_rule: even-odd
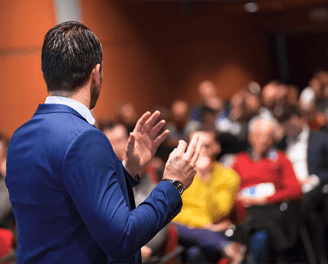
[[[139,115],[179,98],[194,104],[204,80],[224,100],[272,79],[301,91],[328,68],[325,0],[0,0],[0,128],[8,137],[45,101],[43,37],[64,20],[80,20],[103,46],[96,119],[125,102]]]

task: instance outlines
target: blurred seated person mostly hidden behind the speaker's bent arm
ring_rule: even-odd
[[[111,121],[103,121],[99,124],[99,129],[107,136],[112,144],[113,150],[120,160],[125,158],[125,150],[128,145],[128,130],[121,123]],[[155,188],[155,184],[151,181],[149,171],[139,174],[140,184],[134,188],[136,206],[141,204]],[[156,176],[154,176],[156,177]],[[158,232],[147,245],[141,248],[142,261],[147,261],[152,255],[156,254],[166,240],[167,226]]]

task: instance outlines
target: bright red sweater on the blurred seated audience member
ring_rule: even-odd
[[[269,203],[302,198],[301,186],[291,162],[283,152],[276,153],[273,158],[263,158],[260,161],[252,160],[247,153],[236,156],[233,169],[240,176],[240,190],[260,183],[272,182],[276,191],[268,197]]]

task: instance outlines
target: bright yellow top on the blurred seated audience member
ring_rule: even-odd
[[[190,228],[202,228],[230,212],[239,188],[239,176],[218,162],[213,162],[211,167],[209,179],[202,181],[197,174],[182,194],[183,206],[174,222]]]

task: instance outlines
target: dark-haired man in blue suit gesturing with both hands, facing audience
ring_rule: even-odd
[[[181,209],[201,144],[180,141],[163,181],[138,208],[132,187],[168,131],[147,112],[130,134],[123,163],[90,113],[102,83],[102,49],[78,22],[48,31],[42,72],[49,97],[16,130],[6,184],[18,230],[19,263],[140,262],[140,248]]]

